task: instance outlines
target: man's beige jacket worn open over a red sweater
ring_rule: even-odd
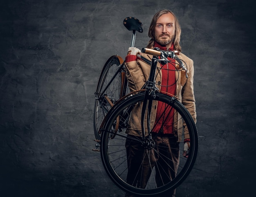
[[[141,55],[151,61],[152,55],[147,55],[144,53],[142,53]],[[176,83],[177,87],[176,87],[175,96],[177,96],[180,99],[179,101],[186,107],[186,109],[188,109],[189,113],[191,114],[193,120],[196,123],[195,97],[194,97],[194,90],[193,90],[193,76],[194,76],[193,60],[189,59],[189,57],[187,57],[182,53],[180,53],[178,57],[186,63],[188,78],[186,78],[186,72],[184,70],[176,71],[175,76],[177,81]],[[159,88],[159,90],[161,90],[160,85],[162,82],[162,71],[161,69],[159,69],[160,66],[161,66],[160,63],[158,63],[157,72],[156,72],[158,73],[156,77],[156,86],[157,88]],[[178,68],[178,70],[180,70],[180,68]],[[130,61],[126,63],[126,77],[128,79],[129,88],[131,92],[140,90],[143,87],[146,80],[148,80],[149,72],[150,72],[150,65],[148,65],[147,63],[139,59],[137,59],[137,61]],[[139,106],[137,106],[137,108],[139,108]],[[157,108],[157,101],[153,103],[153,107],[152,107],[152,115],[151,115],[152,120],[150,123],[151,128],[153,128],[155,124],[156,108]],[[130,124],[129,124],[130,126],[127,128],[126,132],[128,134],[140,136],[141,135],[140,117],[138,118],[139,113],[137,110],[140,110],[140,109],[135,109],[131,113]],[[177,116],[174,118],[176,120],[180,120],[180,118]],[[183,131],[182,129],[177,129],[177,128],[182,128],[183,123],[182,123],[182,120],[180,121],[174,120],[174,123],[176,124],[174,125],[173,130],[177,131],[175,133],[175,136],[177,136],[177,141],[180,142],[182,139]],[[147,135],[147,130],[146,130],[146,135]],[[184,138],[189,138],[189,134],[186,127],[184,129],[184,135],[185,135]]]

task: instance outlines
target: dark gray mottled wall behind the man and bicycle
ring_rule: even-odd
[[[94,92],[125,57],[128,16],[172,10],[194,60],[200,149],[177,197],[255,196],[255,14],[238,0],[11,0],[0,3],[0,196],[123,196],[93,152]]]

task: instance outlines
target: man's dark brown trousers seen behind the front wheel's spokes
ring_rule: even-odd
[[[136,139],[128,135],[126,139],[126,153],[128,174],[126,182],[138,188],[145,188],[155,167],[155,182],[157,187],[163,186],[175,178],[179,165],[179,142],[173,134],[156,134],[152,137],[155,141],[154,149],[144,149]],[[133,139],[132,139],[133,138]],[[164,197],[175,197],[175,190]],[[133,197],[126,193],[125,197]]]

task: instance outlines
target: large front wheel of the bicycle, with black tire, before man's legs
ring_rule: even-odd
[[[177,136],[174,134],[152,132],[152,139],[148,136],[143,139],[141,135],[127,134],[130,124],[135,121],[134,116],[130,116],[130,111],[141,109],[143,101],[144,92],[141,92],[128,96],[112,107],[101,136],[101,159],[110,179],[126,193],[155,196],[174,190],[189,175],[198,151],[198,133],[191,115],[180,102],[171,96],[156,92],[153,104],[155,101],[163,102],[165,112],[173,110],[173,116],[176,117],[173,119],[173,125],[182,121],[180,127],[173,128],[187,128],[189,132],[188,158],[182,155],[184,135],[182,140],[177,142]],[[112,138],[117,116],[120,118],[119,130],[115,138]],[[138,113],[138,121],[139,116]],[[156,121],[163,120],[159,118]],[[155,126],[151,131],[154,129]],[[173,132],[175,133],[175,130]]]

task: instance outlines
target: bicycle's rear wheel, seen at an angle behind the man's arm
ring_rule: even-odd
[[[97,140],[100,140],[99,128],[106,114],[119,100],[121,96],[121,87],[124,85],[124,72],[122,71],[121,63],[123,60],[119,56],[112,56],[106,61],[95,92],[94,104],[94,135]],[[127,82],[126,82],[127,84]]]

